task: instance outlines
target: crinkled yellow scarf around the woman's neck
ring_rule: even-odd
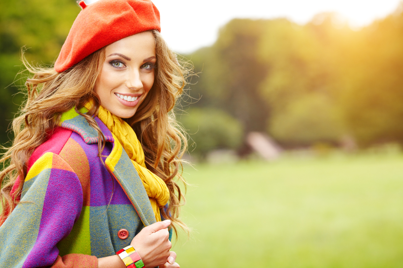
[[[91,107],[92,101],[85,104],[85,108],[91,109]],[[169,190],[160,177],[145,167],[144,151],[133,128],[102,106],[98,109],[98,118],[116,136],[127,155],[129,155],[150,199],[155,219],[161,221],[160,208],[168,202]]]

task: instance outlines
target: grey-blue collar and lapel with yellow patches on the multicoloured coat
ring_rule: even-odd
[[[83,107],[79,109],[81,113],[86,113],[88,110]],[[98,118],[94,118],[101,129],[102,134],[107,142],[112,142],[112,151],[105,159],[105,165],[116,181],[123,188],[123,191],[133,204],[137,214],[145,226],[155,223],[155,216],[152,210],[150,200],[143,183],[137,173],[133,163],[123,146],[116,137],[110,132],[105,124]],[[79,134],[87,144],[98,143],[98,132],[89,126],[87,120],[77,113],[74,109],[70,109],[62,114],[60,126],[67,128]]]

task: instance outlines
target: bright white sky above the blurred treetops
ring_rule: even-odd
[[[152,1],[160,10],[162,35],[172,49],[182,53],[214,43],[220,27],[233,18],[287,17],[303,24],[320,12],[337,12],[353,27],[361,27],[392,13],[400,3],[400,0]]]

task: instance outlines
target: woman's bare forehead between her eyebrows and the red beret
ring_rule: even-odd
[[[105,47],[106,56],[120,53],[130,58],[155,56],[155,41],[151,32],[141,32],[122,38]]]

